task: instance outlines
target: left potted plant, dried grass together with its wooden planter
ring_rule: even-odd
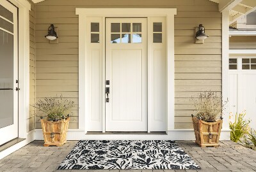
[[[69,112],[74,106],[74,101],[63,98],[63,96],[45,97],[40,99],[35,107],[41,116],[41,125],[44,134],[44,146],[62,146],[67,141],[67,129],[70,121]]]

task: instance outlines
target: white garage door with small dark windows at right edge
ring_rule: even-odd
[[[256,56],[230,57],[229,103],[232,114],[246,111],[246,118],[256,129]]]

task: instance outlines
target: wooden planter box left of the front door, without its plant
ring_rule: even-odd
[[[41,119],[44,147],[64,145],[67,141],[67,130],[70,117],[57,122]]]

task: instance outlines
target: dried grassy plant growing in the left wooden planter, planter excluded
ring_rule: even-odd
[[[47,115],[47,120],[56,121],[68,115],[73,106],[74,101],[65,99],[62,95],[56,95],[56,97],[45,97],[44,99],[38,100],[33,107]]]

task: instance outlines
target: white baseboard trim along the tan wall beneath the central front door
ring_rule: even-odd
[[[44,140],[42,129],[35,129],[35,140]],[[193,129],[168,129],[168,134],[84,134],[68,129],[67,140],[195,140]],[[220,140],[230,140],[230,129],[222,129]]]

